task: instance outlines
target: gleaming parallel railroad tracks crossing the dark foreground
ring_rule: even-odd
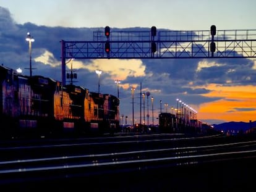
[[[77,180],[88,184],[99,177],[103,182],[198,167],[213,171],[213,167],[256,159],[256,140],[229,141],[222,136],[135,135],[65,142],[0,148],[6,154],[0,161],[0,185]]]

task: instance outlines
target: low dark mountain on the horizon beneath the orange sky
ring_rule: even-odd
[[[238,131],[242,131],[243,133],[249,130],[252,127],[256,127],[256,121],[254,122],[226,122],[220,124],[214,124],[213,127],[216,130],[224,131],[227,133],[228,131],[237,133]]]

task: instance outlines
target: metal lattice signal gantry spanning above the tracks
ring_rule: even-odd
[[[110,51],[105,51],[106,41]],[[156,44],[152,52],[151,44]],[[215,51],[210,44],[215,43]],[[66,84],[66,59],[189,59],[189,58],[254,58],[256,30],[173,31],[111,31],[93,32],[93,41],[61,41],[62,83]]]

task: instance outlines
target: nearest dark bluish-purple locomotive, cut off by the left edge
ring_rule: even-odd
[[[28,136],[43,132],[53,123],[54,81],[41,76],[27,77],[0,67],[1,135]]]

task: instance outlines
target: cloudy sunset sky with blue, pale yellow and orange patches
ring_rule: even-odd
[[[93,31],[105,26],[116,29],[158,30],[255,30],[256,1],[18,1],[0,3],[0,63],[29,75],[29,31],[32,43],[33,75],[61,80],[61,40],[92,40]],[[142,92],[153,97],[154,124],[160,110],[171,111],[176,99],[197,111],[197,118],[209,124],[256,120],[255,59],[84,59],[72,61],[78,75],[75,85],[117,96],[120,114],[140,120]],[[70,70],[67,64],[67,72]],[[162,101],[162,104],[160,103]],[[164,105],[168,104],[168,105]],[[165,107],[168,106],[168,107]],[[146,106],[147,107],[147,106]],[[162,111],[162,112],[163,112]],[[142,112],[143,114],[143,112]],[[147,114],[147,109],[146,109]],[[143,119],[143,117],[142,117]],[[147,119],[147,118],[146,118]],[[121,122],[122,123],[122,122]],[[129,122],[127,122],[129,123]]]

